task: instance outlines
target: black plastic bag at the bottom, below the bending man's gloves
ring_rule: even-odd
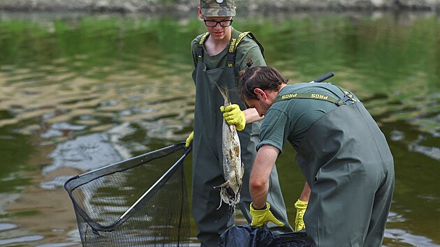
[[[274,234],[266,225],[234,225],[221,234],[219,247],[313,247],[305,230]]]

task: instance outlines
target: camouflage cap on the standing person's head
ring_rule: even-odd
[[[200,0],[200,8],[207,17],[235,16],[234,0]]]

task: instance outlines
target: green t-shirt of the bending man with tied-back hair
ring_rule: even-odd
[[[287,85],[281,89],[279,96],[286,93],[321,93],[335,98],[344,96],[341,89],[327,82]],[[274,103],[267,110],[261,124],[257,150],[263,145],[271,145],[277,147],[281,154],[286,140],[297,149],[311,124],[337,107],[335,103],[309,98],[293,98]]]

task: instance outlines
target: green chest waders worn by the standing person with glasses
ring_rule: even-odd
[[[233,224],[235,216],[231,216],[231,210],[227,204],[217,210],[220,204],[218,186],[223,184],[223,155],[221,152],[221,126],[223,123],[220,106],[223,105],[216,83],[223,88],[229,89],[230,101],[240,105],[240,109],[247,107],[237,94],[237,69],[235,68],[235,52],[237,45],[244,36],[249,33],[240,33],[233,30],[230,45],[228,46],[228,59],[223,68],[207,70],[203,63],[203,42],[209,33],[200,38],[198,44],[198,63],[193,71],[193,80],[196,84],[196,106],[194,110],[194,138],[193,138],[193,195],[192,208],[193,218],[197,225],[197,237],[202,246],[218,246],[220,234],[228,226]],[[249,123],[242,131],[238,131],[242,148],[242,163],[244,163],[243,186],[239,207],[244,217],[251,222],[249,204],[249,174],[256,156],[256,145],[260,133],[261,123]],[[274,215],[284,223],[287,222],[284,200],[279,188],[277,171],[271,174],[272,186],[270,187],[270,204],[274,207]],[[272,207],[271,207],[272,209]],[[287,231],[291,230],[286,224]],[[274,230],[281,230],[277,227]]]

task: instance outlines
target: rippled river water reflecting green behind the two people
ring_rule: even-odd
[[[234,27],[289,83],[332,71],[356,93],[395,158],[383,246],[440,246],[439,17],[239,13]],[[185,140],[189,44],[203,31],[195,13],[0,13],[0,246],[80,246],[64,181]],[[286,145],[277,163],[290,220],[304,183],[294,157]]]

